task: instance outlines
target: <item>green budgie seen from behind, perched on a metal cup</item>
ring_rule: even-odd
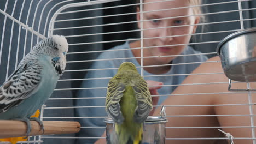
[[[143,123],[151,110],[152,99],[147,82],[133,63],[122,63],[107,88],[106,112],[115,122],[110,143],[141,143]]]

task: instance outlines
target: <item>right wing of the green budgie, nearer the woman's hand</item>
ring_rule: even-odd
[[[152,99],[148,89],[148,84],[142,78],[139,82],[135,83],[132,88],[135,91],[135,97],[138,105],[133,118],[135,119],[135,122],[141,123],[147,119],[149,112],[152,110]]]

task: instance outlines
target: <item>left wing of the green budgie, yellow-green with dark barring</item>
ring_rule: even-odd
[[[124,117],[120,110],[119,101],[123,97],[123,92],[125,91],[126,86],[124,83],[117,82],[118,79],[121,79],[121,75],[116,75],[108,83],[106,112],[114,122],[122,123]]]

